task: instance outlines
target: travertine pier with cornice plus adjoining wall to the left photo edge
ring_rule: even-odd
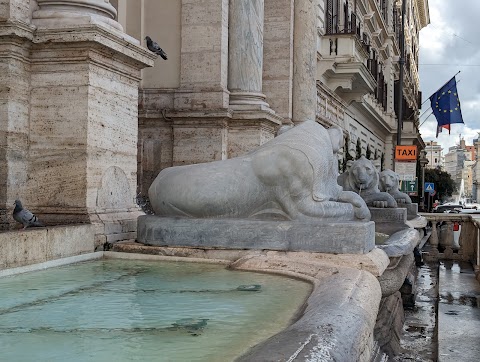
[[[20,198],[47,224],[92,223],[97,243],[135,238],[138,86],[155,56],[92,1],[0,7],[3,228]]]

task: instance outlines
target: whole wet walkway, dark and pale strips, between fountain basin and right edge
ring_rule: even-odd
[[[405,311],[395,361],[480,361],[480,283],[465,262],[418,268],[415,308]]]

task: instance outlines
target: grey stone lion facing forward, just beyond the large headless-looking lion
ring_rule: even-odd
[[[356,192],[371,207],[397,207],[393,196],[378,188],[378,169],[372,161],[362,156],[350,161],[347,167],[348,170],[338,177],[345,191]]]

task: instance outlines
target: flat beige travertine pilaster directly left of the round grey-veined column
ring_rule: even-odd
[[[182,0],[176,110],[228,107],[228,0]]]

